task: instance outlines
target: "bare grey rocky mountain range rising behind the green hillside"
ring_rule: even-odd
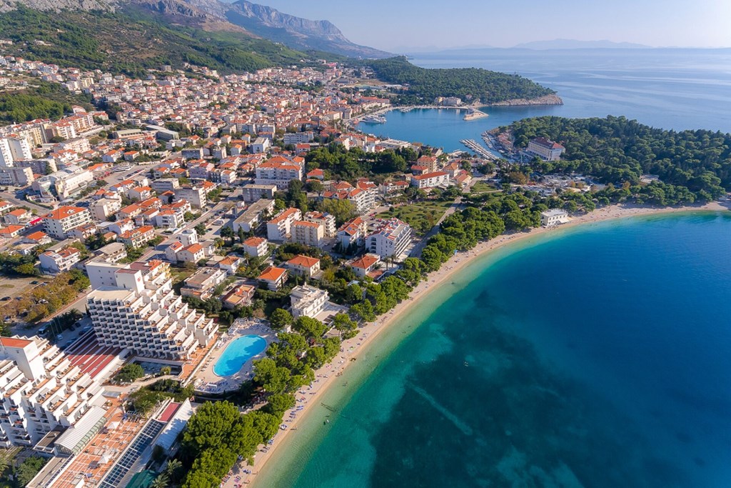
[[[317,50],[352,58],[387,58],[385,51],[357,45],[328,20],[295,17],[246,0],[0,0],[0,12],[20,3],[34,10],[102,10],[127,12],[144,9],[168,24],[205,31],[232,31],[280,42],[298,50]],[[1,33],[0,33],[1,35]]]

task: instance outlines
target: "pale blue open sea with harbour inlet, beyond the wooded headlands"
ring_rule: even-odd
[[[417,54],[423,67],[482,67],[518,73],[558,92],[561,106],[486,108],[465,122],[455,110],[390,112],[360,129],[447,151],[462,138],[532,116],[626,116],[664,129],[731,132],[731,50],[475,50]]]

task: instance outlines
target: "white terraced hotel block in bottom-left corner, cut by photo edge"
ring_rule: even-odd
[[[76,454],[103,424],[102,385],[126,353],[100,348],[91,334],[67,353],[46,339],[0,337],[0,447],[35,446],[54,429],[74,426],[66,432],[78,438],[64,432],[46,452]]]

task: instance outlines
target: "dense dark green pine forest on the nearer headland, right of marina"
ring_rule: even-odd
[[[637,195],[660,205],[713,200],[731,191],[731,135],[709,130],[655,129],[625,117],[562,119],[539,117],[513,123],[515,145],[534,137],[566,147],[558,162],[534,161],[539,173],[578,172],[613,184],[610,200]],[[660,181],[640,186],[640,176]],[[618,188],[621,187],[621,188]],[[616,195],[623,192],[624,195]],[[612,198],[616,197],[616,198]]]

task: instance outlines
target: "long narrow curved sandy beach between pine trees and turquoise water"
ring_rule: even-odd
[[[450,282],[450,278],[453,275],[458,274],[460,271],[465,269],[466,266],[469,266],[475,258],[486,255],[489,252],[493,252],[507,244],[515,243],[523,239],[529,239],[542,233],[556,232],[557,229],[566,229],[591,222],[601,222],[610,219],[620,219],[623,217],[701,210],[727,211],[728,208],[719,203],[708,203],[704,206],[673,208],[619,205],[609,206],[604,209],[597,209],[590,214],[574,217],[572,222],[561,225],[558,228],[534,228],[522,233],[504,234],[491,241],[477,244],[474,249],[471,249],[468,252],[458,252],[455,256],[450,258],[447,263],[444,263],[439,271],[435,271],[429,274],[426,279],[423,279],[420,285],[414,288],[408,300],[401,302],[401,304],[398,304],[390,312],[379,317],[376,322],[368,323],[366,326],[363,326],[357,337],[344,341],[341,353],[338,354],[336,359],[316,372],[316,380],[311,386],[301,388],[295,395],[297,398],[297,405],[295,408],[284,414],[284,424],[287,425],[287,429],[280,429],[279,433],[273,439],[273,442],[269,446],[266,446],[266,448],[260,449],[257,453],[256,459],[254,460],[253,467],[248,466],[245,463],[236,465],[233,468],[232,476],[223,484],[223,486],[231,488],[235,487],[236,484],[257,486],[257,474],[262,469],[262,466],[264,466],[268,460],[273,457],[277,448],[287,442],[287,438],[292,435],[292,432],[297,432],[297,421],[303,417],[312,405],[319,405],[319,397],[322,396],[327,388],[334,383],[337,383],[338,373],[346,369],[349,364],[352,364],[352,359],[357,359],[357,355],[360,353],[363,346],[373,342],[374,339],[378,337],[382,331],[388,329],[392,323],[399,318],[404,317],[404,315],[407,315],[412,307],[420,304],[420,302],[428,297],[433,290],[439,288],[439,285]],[[249,471],[249,473],[246,473],[245,470]]]

